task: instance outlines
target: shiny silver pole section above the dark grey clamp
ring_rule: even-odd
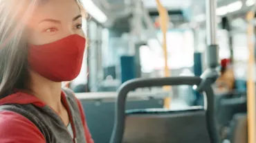
[[[217,45],[216,0],[206,0],[206,32],[208,45]]]

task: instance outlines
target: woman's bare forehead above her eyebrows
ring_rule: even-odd
[[[33,12],[32,21],[41,21],[43,19],[57,19],[71,21],[80,14],[80,8],[76,0],[42,0]]]

